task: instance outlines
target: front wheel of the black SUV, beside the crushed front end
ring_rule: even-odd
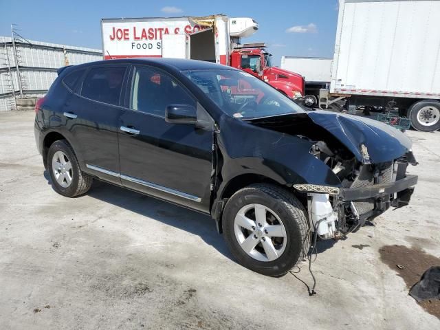
[[[272,184],[237,191],[223,212],[223,234],[230,252],[244,267],[282,276],[310,247],[307,212],[292,192]]]

